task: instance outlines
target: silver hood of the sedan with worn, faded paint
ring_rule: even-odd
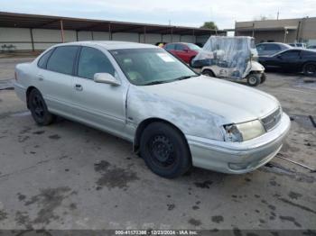
[[[213,77],[191,77],[141,88],[166,100],[189,104],[223,118],[224,123],[244,123],[272,113],[280,104],[272,95]]]

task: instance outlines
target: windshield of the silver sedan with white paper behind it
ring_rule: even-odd
[[[191,68],[163,49],[110,50],[128,80],[136,86],[197,77]]]

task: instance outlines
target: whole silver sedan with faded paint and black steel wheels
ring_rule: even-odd
[[[147,44],[55,45],[17,65],[14,86],[36,123],[60,115],[132,141],[162,177],[191,166],[252,171],[274,158],[290,129],[274,96],[200,76]]]

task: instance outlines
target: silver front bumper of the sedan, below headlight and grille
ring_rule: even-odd
[[[259,168],[274,158],[289,132],[290,118],[283,113],[273,130],[243,142],[213,141],[187,135],[194,167],[229,174],[243,174]]]

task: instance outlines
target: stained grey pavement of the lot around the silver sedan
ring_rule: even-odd
[[[278,158],[316,168],[312,79],[267,73],[257,87],[292,120],[265,167],[238,176],[193,168],[165,179],[105,132],[61,118],[37,126],[10,88],[14,65],[28,60],[0,59],[1,229],[316,230],[316,172]]]

